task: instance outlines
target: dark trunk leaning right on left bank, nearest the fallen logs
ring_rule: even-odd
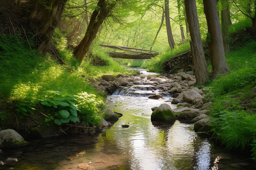
[[[115,3],[107,5],[105,0],[98,1],[97,8],[93,11],[92,16],[90,17],[90,22],[86,29],[85,36],[73,52],[76,58],[80,61],[84,59],[84,56],[88,52],[90,44],[92,44],[92,41],[95,39],[101,24],[104,22],[114,5]]]

